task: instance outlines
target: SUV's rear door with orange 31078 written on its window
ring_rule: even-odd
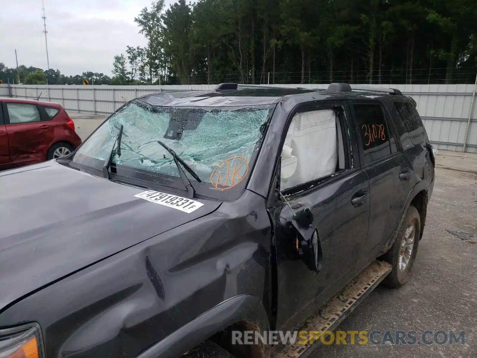
[[[413,170],[380,101],[351,101],[362,168],[369,178],[366,253],[373,259],[392,236],[412,187]]]

